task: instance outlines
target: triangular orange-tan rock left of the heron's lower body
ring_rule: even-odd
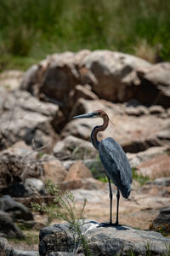
[[[71,180],[84,179],[87,177],[92,177],[92,173],[89,169],[82,163],[82,161],[77,161],[71,166],[67,176],[65,177],[65,182]]]

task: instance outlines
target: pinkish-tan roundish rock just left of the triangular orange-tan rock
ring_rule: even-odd
[[[67,176],[67,171],[59,160],[51,160],[42,163],[43,166],[43,179],[50,179],[54,183],[62,183]]]

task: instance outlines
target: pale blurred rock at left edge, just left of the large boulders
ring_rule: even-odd
[[[3,71],[3,73],[0,73],[0,86],[7,90],[19,89],[23,75],[24,72],[20,70]]]

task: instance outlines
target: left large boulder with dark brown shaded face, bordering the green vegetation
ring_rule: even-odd
[[[89,50],[82,50],[77,54],[65,52],[48,56],[26,72],[21,88],[34,95],[38,91],[47,100],[51,98],[67,105],[69,92],[80,83],[78,67],[88,54]]]

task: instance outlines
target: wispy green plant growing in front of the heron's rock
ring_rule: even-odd
[[[82,226],[84,224],[83,212],[86,206],[87,200],[84,199],[82,210],[80,212],[77,211],[75,197],[71,194],[71,192],[66,191],[63,193],[59,186],[52,183],[50,180],[46,181],[46,189],[48,193],[55,196],[54,203],[57,203],[61,208],[56,207],[48,207],[45,204],[40,205],[38,203],[31,203],[31,207],[34,211],[38,212],[46,212],[48,214],[49,220],[54,218],[60,218],[68,224],[70,224],[70,229],[75,237],[77,237],[78,244],[82,244],[85,255],[91,256],[91,252],[88,247],[88,242],[86,241],[85,236],[82,234]]]

